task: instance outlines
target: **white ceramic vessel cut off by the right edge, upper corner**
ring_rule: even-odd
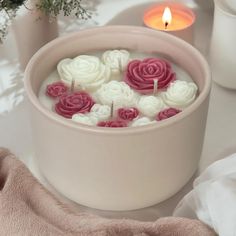
[[[213,80],[219,85],[236,89],[236,12],[225,0],[214,0],[214,24],[210,46],[210,64]]]

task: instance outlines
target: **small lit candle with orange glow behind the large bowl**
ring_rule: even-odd
[[[149,28],[170,33],[193,44],[195,14],[183,4],[156,4],[144,13],[143,22]]]

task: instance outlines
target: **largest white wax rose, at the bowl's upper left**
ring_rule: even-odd
[[[77,89],[95,91],[110,80],[110,67],[104,65],[98,57],[80,55],[74,59],[66,58],[57,65],[61,80]]]

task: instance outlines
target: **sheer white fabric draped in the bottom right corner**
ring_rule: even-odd
[[[199,218],[220,236],[235,236],[236,153],[209,166],[173,215]]]

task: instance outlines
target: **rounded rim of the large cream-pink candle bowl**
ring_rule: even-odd
[[[60,117],[59,115],[55,114],[52,111],[49,111],[46,107],[44,107],[38,100],[37,94],[33,91],[32,84],[31,84],[31,76],[34,74],[34,66],[38,64],[38,61],[42,60],[42,57],[47,55],[48,51],[52,50],[53,48],[58,48],[58,45],[62,43],[68,43],[71,39],[76,40],[79,37],[92,37],[94,34],[104,34],[104,31],[109,34],[115,34],[118,32],[127,33],[127,34],[136,34],[136,35],[143,35],[148,34],[150,37],[161,37],[163,41],[168,40],[170,43],[175,43],[176,47],[181,46],[185,49],[188,49],[191,51],[191,53],[198,58],[198,60],[201,62],[202,68],[205,73],[206,81],[204,84],[204,87],[199,94],[198,98],[195,100],[193,104],[191,104],[188,108],[186,108],[183,112],[180,114],[171,117],[170,119],[166,119],[162,122],[158,122],[155,124],[148,124],[145,126],[140,127],[126,127],[126,128],[104,128],[104,127],[96,127],[96,126],[88,126],[84,124],[79,123],[73,123],[70,120],[66,120],[63,117]],[[209,94],[210,88],[211,88],[211,73],[209,70],[208,63],[204,59],[204,57],[201,55],[201,53],[192,47],[190,44],[186,43],[185,41],[166,34],[161,31],[154,31],[148,28],[139,27],[139,26],[101,26],[101,27],[95,27],[90,29],[84,29],[79,32],[75,33],[69,33],[65,36],[59,37],[45,46],[43,46],[36,54],[31,58],[29,64],[26,67],[25,71],[25,89],[27,92],[27,95],[29,97],[30,103],[34,106],[35,109],[37,109],[38,112],[41,113],[41,115],[44,115],[47,117],[47,119],[53,120],[57,124],[66,126],[67,128],[72,128],[79,131],[84,132],[91,132],[91,133],[102,133],[102,134],[114,134],[114,135],[124,135],[124,134],[137,134],[137,133],[143,133],[148,131],[153,131],[155,129],[164,128],[166,126],[169,126],[173,123],[180,122],[185,117],[188,117],[190,114],[192,114],[200,105],[201,103],[206,99],[206,97]]]

